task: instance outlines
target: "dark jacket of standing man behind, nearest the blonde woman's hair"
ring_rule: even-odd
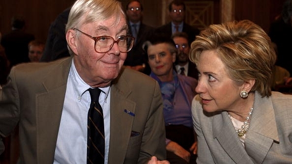
[[[155,32],[164,33],[167,36],[171,37],[172,36],[172,23],[170,22],[168,24],[165,24],[161,27],[156,28]],[[199,35],[200,30],[198,28],[192,27],[184,22],[182,32],[185,32],[188,34],[188,37],[189,37],[188,41],[189,41],[189,44],[191,44],[195,40],[196,36]]]

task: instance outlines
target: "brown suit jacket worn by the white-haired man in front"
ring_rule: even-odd
[[[0,134],[8,136],[19,122],[22,164],[54,161],[71,62],[68,57],[18,65],[12,68],[9,82],[3,86]],[[150,156],[166,158],[163,106],[157,82],[125,68],[112,82],[110,105],[108,164],[145,164]],[[138,133],[133,135],[133,131]]]

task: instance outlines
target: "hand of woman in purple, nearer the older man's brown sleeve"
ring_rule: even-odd
[[[179,144],[177,144],[174,141],[170,141],[167,145],[166,145],[166,150],[171,151],[173,153],[175,153],[175,155],[177,155],[178,157],[184,159],[185,161],[187,161],[188,163],[190,162],[190,158],[191,158],[191,153],[187,150],[185,150],[183,147],[181,147]]]

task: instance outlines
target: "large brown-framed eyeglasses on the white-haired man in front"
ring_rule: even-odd
[[[117,46],[119,48],[119,51],[121,53],[127,53],[129,52],[134,44],[134,40],[135,38],[132,36],[121,36],[119,37],[117,40],[115,40],[113,37],[111,36],[97,36],[97,37],[93,37],[88,35],[85,32],[82,32],[81,30],[77,29],[77,28],[73,28],[74,30],[78,30],[79,32],[85,34],[86,36],[88,36],[89,38],[93,39],[94,42],[94,50],[97,53],[107,53],[109,52],[115,43],[117,43]]]

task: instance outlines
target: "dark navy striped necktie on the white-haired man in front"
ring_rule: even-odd
[[[102,108],[98,102],[101,90],[99,88],[88,89],[91,97],[88,111],[88,141],[87,164],[104,163],[104,122]]]

